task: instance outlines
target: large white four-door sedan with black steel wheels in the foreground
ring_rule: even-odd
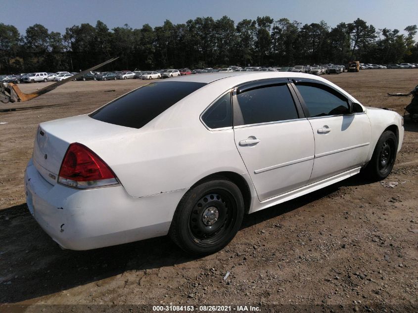
[[[63,248],[170,234],[205,255],[232,240],[244,214],[362,169],[386,178],[403,136],[398,113],[313,75],[182,76],[41,123],[27,205]]]

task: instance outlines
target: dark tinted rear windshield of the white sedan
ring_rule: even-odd
[[[135,89],[90,114],[95,120],[141,128],[169,107],[206,85],[192,82],[159,82]]]

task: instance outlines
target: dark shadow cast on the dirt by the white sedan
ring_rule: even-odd
[[[343,180],[247,215],[242,228],[298,209],[341,186],[367,183],[359,176]],[[26,204],[0,210],[0,229],[0,304],[53,294],[126,270],[160,268],[197,259],[186,255],[167,236],[90,251],[61,250],[32,218]]]

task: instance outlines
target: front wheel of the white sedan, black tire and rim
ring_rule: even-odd
[[[371,180],[377,181],[389,176],[396,160],[398,139],[391,131],[380,135],[373,151],[372,159],[363,171],[363,174]]]

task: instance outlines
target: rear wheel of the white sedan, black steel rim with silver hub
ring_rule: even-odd
[[[244,216],[239,188],[216,179],[190,189],[180,200],[170,226],[170,237],[184,251],[208,255],[224,248],[235,236]]]

